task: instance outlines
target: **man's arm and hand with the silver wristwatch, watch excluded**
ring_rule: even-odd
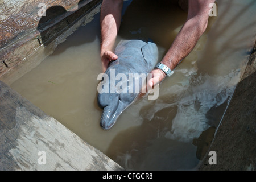
[[[174,70],[179,62],[193,50],[200,36],[203,35],[207,28],[209,11],[212,8],[209,7],[209,4],[214,2],[215,0],[189,0],[187,20],[161,63]],[[151,73],[152,79],[148,81],[151,87],[162,81],[166,76],[158,68],[151,71]]]

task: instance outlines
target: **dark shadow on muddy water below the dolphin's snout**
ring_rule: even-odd
[[[151,106],[141,109],[145,115]],[[171,130],[172,119],[177,107],[166,107],[157,111],[154,118],[143,117],[141,126],[131,127],[112,140],[106,153],[126,170],[191,170],[198,159],[195,156],[196,144],[180,142],[164,137]],[[205,142],[205,140],[203,140]],[[198,155],[204,150],[200,148]]]

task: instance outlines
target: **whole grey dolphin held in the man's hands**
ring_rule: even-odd
[[[129,80],[131,80],[131,77],[129,79],[129,73],[138,73],[138,75],[144,73],[144,75],[147,76],[147,74],[154,69],[156,63],[158,63],[158,48],[151,40],[148,42],[142,40],[123,40],[115,49],[115,54],[118,56],[118,59],[109,64],[108,69],[105,71],[108,77],[106,80],[102,78],[101,82],[102,85],[105,83],[104,86],[109,86],[109,93],[98,94],[98,106],[103,109],[100,125],[105,130],[110,129],[114,125],[119,115],[131,105],[139,95],[138,91],[135,90],[135,79],[139,77],[132,78],[133,88],[131,88],[131,86],[129,86]],[[115,76],[117,76],[118,73],[125,73],[126,79],[121,78],[120,80],[116,80],[113,74],[111,77],[111,69],[112,72],[114,69]],[[143,81],[139,82],[139,90],[142,88]],[[123,90],[119,90],[118,92],[118,89],[114,89],[114,92],[112,91],[113,93],[110,93],[111,86],[113,89],[113,82],[115,83],[114,86],[118,83],[127,85],[126,87],[121,87],[121,89],[126,89],[126,93],[123,93]],[[102,89],[104,89],[104,86],[102,86]]]

